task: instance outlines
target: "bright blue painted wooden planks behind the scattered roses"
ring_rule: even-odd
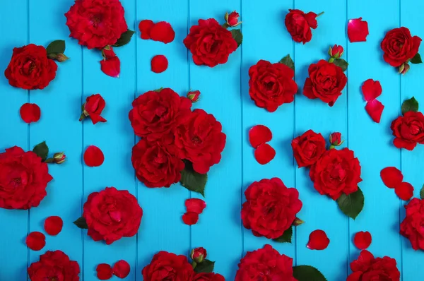
[[[233,280],[237,263],[246,251],[272,244],[278,251],[294,258],[296,265],[308,264],[322,270],[329,281],[346,280],[349,263],[358,256],[353,234],[372,234],[370,251],[376,256],[396,258],[401,280],[424,280],[424,253],[413,251],[409,241],[399,235],[399,222],[404,218],[404,202],[379,178],[383,167],[401,168],[405,180],[411,182],[418,196],[424,183],[422,160],[424,145],[412,152],[394,148],[391,143],[391,120],[400,114],[401,102],[413,95],[424,104],[422,77],[424,66],[412,66],[406,76],[399,76],[385,64],[379,44],[391,28],[406,26],[413,35],[424,38],[419,11],[424,1],[416,0],[122,0],[129,27],[138,30],[143,19],[167,20],[175,28],[174,42],[163,44],[141,40],[139,32],[117,54],[122,61],[119,78],[110,78],[100,71],[100,53],[90,51],[68,38],[64,13],[71,0],[2,1],[0,8],[0,69],[6,69],[13,47],[30,42],[47,46],[57,39],[66,39],[69,61],[59,65],[57,78],[45,89],[26,91],[8,85],[0,76],[0,148],[19,145],[32,149],[42,140],[53,151],[64,150],[66,164],[51,165],[54,177],[48,196],[38,208],[25,210],[0,209],[0,280],[26,280],[26,268],[47,249],[61,249],[81,266],[82,280],[97,280],[98,263],[124,259],[131,264],[126,280],[142,280],[141,269],[160,250],[188,254],[193,247],[204,246],[208,257],[216,261],[216,272]],[[318,28],[312,41],[293,43],[285,30],[284,17],[289,8],[319,13]],[[227,64],[208,68],[196,66],[182,44],[191,25],[199,18],[217,18],[223,22],[226,11],[240,11],[242,46],[230,56]],[[416,11],[415,13],[413,11]],[[367,42],[350,43],[346,35],[349,18],[367,20],[370,35]],[[259,59],[279,61],[290,54],[295,61],[295,80],[302,89],[307,67],[326,57],[329,45],[341,44],[348,60],[348,85],[334,107],[308,100],[301,94],[295,102],[284,104],[269,113],[255,107],[248,94],[248,69]],[[421,48],[424,52],[424,48]],[[164,73],[151,72],[150,61],[164,54],[169,68]],[[383,93],[379,100],[385,105],[380,124],[365,112],[360,85],[368,78],[379,80]],[[147,189],[134,177],[131,147],[136,138],[128,120],[131,101],[147,90],[170,87],[184,95],[187,90],[201,90],[201,107],[216,116],[227,134],[223,159],[209,173],[206,187],[208,204],[199,223],[184,225],[184,200],[196,196],[182,186],[170,189]],[[107,102],[102,114],[107,123],[93,126],[80,123],[81,104],[88,95],[100,93]],[[42,117],[35,124],[25,124],[19,108],[25,102],[40,106]],[[271,128],[276,157],[268,165],[259,165],[247,140],[249,128],[264,124]],[[328,136],[340,131],[345,144],[355,151],[363,167],[360,188],[365,194],[365,208],[356,220],[348,219],[336,203],[314,191],[307,169],[298,169],[293,161],[290,141],[293,136],[312,128]],[[101,167],[82,164],[81,155],[88,145],[97,145],[105,153]],[[306,223],[297,227],[293,244],[277,244],[252,235],[240,220],[245,200],[243,191],[264,178],[280,177],[287,186],[300,191],[303,208],[299,216]],[[105,186],[128,189],[139,200],[144,215],[139,234],[107,246],[95,242],[72,222],[81,215],[88,194]],[[28,232],[42,231],[46,217],[59,215],[64,229],[57,237],[47,235],[42,251],[25,246]],[[310,232],[324,229],[331,240],[324,251],[306,248]],[[117,280],[117,277],[114,277]]]

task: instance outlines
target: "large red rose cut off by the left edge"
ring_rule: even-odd
[[[46,187],[53,178],[47,164],[32,151],[25,153],[13,146],[0,153],[0,208],[37,207],[47,195]]]

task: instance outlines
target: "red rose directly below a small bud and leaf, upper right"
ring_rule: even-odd
[[[345,73],[336,64],[324,59],[311,64],[308,71],[309,77],[305,80],[303,95],[310,99],[319,98],[332,107],[348,82]]]

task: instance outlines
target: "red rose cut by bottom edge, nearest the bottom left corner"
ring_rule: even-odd
[[[40,256],[40,261],[31,263],[28,275],[31,281],[79,281],[79,265],[69,260],[62,251],[47,251]]]

